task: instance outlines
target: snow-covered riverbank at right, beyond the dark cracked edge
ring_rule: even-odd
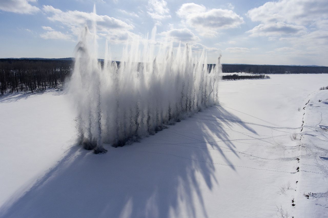
[[[319,127],[328,126],[328,90],[309,96],[302,112],[296,214],[328,217],[328,130]]]

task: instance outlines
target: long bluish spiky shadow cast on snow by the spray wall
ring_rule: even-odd
[[[256,134],[218,105],[141,143],[105,145],[107,154],[72,146],[30,190],[0,208],[0,217],[170,217],[180,205],[187,217],[196,216],[195,206],[208,217],[200,183],[212,190],[220,175],[214,164],[233,165],[226,150],[238,154],[227,130],[235,127]]]

